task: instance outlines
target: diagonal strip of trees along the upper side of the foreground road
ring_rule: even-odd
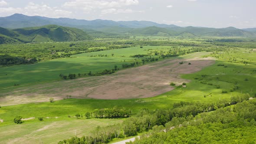
[[[249,95],[242,95],[238,103],[247,101]],[[71,139],[59,141],[59,144],[98,144],[107,143],[113,138],[129,137],[134,136],[138,132],[148,131],[150,129],[163,129],[164,127],[171,128],[175,124],[188,125],[191,120],[198,115],[206,115],[209,111],[223,111],[223,108],[229,108],[228,106],[233,105],[233,98],[228,100],[220,100],[216,103],[200,103],[200,102],[186,102],[181,101],[174,103],[173,108],[170,109],[157,109],[155,111],[149,110],[148,108],[141,109],[137,115],[125,119],[122,124],[113,125],[111,127],[98,127],[93,131],[91,137],[72,137]],[[256,103],[254,103],[256,105]],[[254,114],[256,118],[256,113]],[[226,117],[225,117],[226,118]],[[216,121],[221,118],[213,118],[212,121]],[[185,121],[185,122],[184,122]],[[191,121],[191,123],[193,123]],[[210,121],[210,120],[209,120]],[[222,120],[225,122],[227,120]],[[195,123],[195,122],[194,122]],[[116,135],[118,133],[118,136]]]

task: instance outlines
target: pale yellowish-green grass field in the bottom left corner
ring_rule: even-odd
[[[45,118],[46,119],[46,118]],[[56,118],[54,118],[56,119]],[[90,136],[98,125],[101,127],[119,124],[122,119],[76,119],[70,121],[41,121],[24,124],[8,125],[0,128],[1,144],[56,144],[71,136]]]

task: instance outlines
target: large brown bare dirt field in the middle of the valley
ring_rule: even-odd
[[[183,65],[179,64],[181,61],[184,61]],[[213,63],[214,60],[209,58],[167,59],[121,70],[112,75],[23,86],[1,96],[0,105],[49,101],[49,97],[59,100],[66,98],[66,95],[98,99],[154,97],[171,91],[173,87],[169,85],[170,82],[177,85],[189,82],[181,79],[180,74],[194,73]]]

